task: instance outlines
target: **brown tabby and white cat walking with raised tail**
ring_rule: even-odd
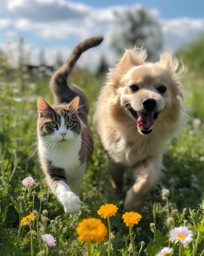
[[[77,85],[67,84],[66,79],[80,55],[102,40],[98,36],[79,43],[52,76],[53,106],[37,98],[39,159],[48,186],[68,214],[81,209],[78,193],[93,153],[93,137],[87,124],[86,95]]]

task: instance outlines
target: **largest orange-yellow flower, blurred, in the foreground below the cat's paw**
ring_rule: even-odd
[[[95,241],[100,245],[101,240],[104,241],[105,236],[107,236],[107,228],[103,222],[97,218],[83,219],[79,222],[76,231],[79,236],[79,241],[83,240],[88,243],[88,245],[91,241]]]

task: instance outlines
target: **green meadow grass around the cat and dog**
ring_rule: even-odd
[[[36,99],[41,96],[53,103],[49,78],[41,71],[31,74],[25,69],[13,72],[11,77],[3,61],[0,70],[0,255],[87,255],[86,243],[79,242],[75,229],[84,218],[100,218],[97,211],[106,203],[119,208],[116,216],[110,217],[111,255],[132,255],[129,228],[122,219],[125,190],[116,193],[112,189],[107,156],[92,126],[94,104],[105,79],[77,69],[69,78],[69,82],[81,86],[90,102],[94,153],[80,190],[81,211],[68,216],[48,189],[36,151]],[[187,74],[184,84],[189,91],[185,105],[191,107],[190,117],[168,141],[164,155],[166,170],[161,182],[145,200],[140,213],[142,219],[132,228],[134,248],[140,256],[154,256],[167,246],[173,248],[171,255],[204,255],[203,80],[191,79]],[[36,184],[25,189],[21,182],[28,176],[32,176]],[[131,184],[128,178],[127,186]],[[169,196],[162,195],[164,189],[169,190]],[[22,217],[30,212],[35,219],[21,227]],[[108,227],[107,220],[102,221]],[[187,248],[180,249],[181,245],[169,242],[169,231],[179,226],[186,226],[193,232],[193,241]],[[47,247],[42,234],[52,234],[56,245]],[[100,246],[92,243],[90,255],[107,255],[108,241],[107,236]]]

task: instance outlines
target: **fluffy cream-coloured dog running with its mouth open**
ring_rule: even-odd
[[[99,140],[109,158],[112,185],[121,189],[126,168],[134,185],[127,191],[125,211],[140,211],[160,177],[165,144],[181,123],[184,90],[178,60],[168,53],[155,63],[146,51],[126,50],[110,69],[93,117]],[[178,72],[177,72],[178,71]]]

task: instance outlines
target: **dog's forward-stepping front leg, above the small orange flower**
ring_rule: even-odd
[[[124,201],[125,211],[140,211],[143,207],[145,196],[158,180],[162,168],[162,156],[149,157],[139,162],[133,170],[136,182],[127,191]]]

